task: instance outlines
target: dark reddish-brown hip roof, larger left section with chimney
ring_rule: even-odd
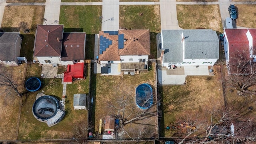
[[[63,25],[38,25],[34,56],[60,56],[63,27]],[[57,38],[59,38],[60,42],[58,42]]]

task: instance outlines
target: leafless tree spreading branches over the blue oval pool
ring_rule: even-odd
[[[155,130],[148,125],[139,123],[140,120],[149,120],[150,117],[156,116],[156,102],[154,102],[154,95],[146,93],[144,99],[137,98],[135,95],[127,91],[127,89],[117,88],[117,97],[115,101],[107,101],[106,106],[110,110],[111,114],[116,114],[120,120],[121,131],[134,141],[138,141],[145,136],[153,137]],[[147,109],[141,109],[136,106],[139,104],[141,107]],[[132,123],[140,124],[138,127],[130,127]],[[150,133],[151,132],[151,133]],[[118,139],[122,139],[123,136],[118,136]]]

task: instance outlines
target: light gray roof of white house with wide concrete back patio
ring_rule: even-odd
[[[219,39],[213,30],[162,30],[164,62],[183,61],[182,33],[186,59],[219,58]]]

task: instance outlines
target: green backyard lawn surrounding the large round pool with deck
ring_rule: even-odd
[[[40,77],[41,67],[38,64],[28,64],[26,78],[31,76]],[[41,79],[44,94],[62,98],[63,84],[61,79]],[[37,92],[29,92],[23,97],[22,114],[20,118],[20,128],[18,139],[57,139],[72,138],[73,128],[80,122],[87,122],[88,111],[73,110],[73,95],[77,93],[89,93],[89,77],[85,80],[76,80],[72,84],[67,84],[65,116],[56,125],[48,127],[46,123],[39,122],[32,114],[32,106],[36,100]]]

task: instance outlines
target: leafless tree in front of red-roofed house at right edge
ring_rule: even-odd
[[[240,95],[252,96],[256,94],[255,89],[250,87],[256,85],[256,62],[249,50],[237,50],[230,54],[230,73],[228,76],[228,85],[238,90]],[[253,50],[252,54],[256,54]]]

